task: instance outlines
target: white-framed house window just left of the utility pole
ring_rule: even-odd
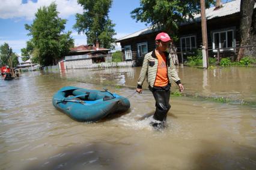
[[[183,53],[187,53],[193,48],[197,48],[195,43],[195,35],[189,37],[181,37],[180,38],[181,50]]]

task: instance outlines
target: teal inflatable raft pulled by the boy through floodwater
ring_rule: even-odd
[[[79,122],[96,122],[109,114],[121,113],[130,108],[127,98],[108,90],[88,90],[79,87],[62,87],[53,95],[52,104]]]

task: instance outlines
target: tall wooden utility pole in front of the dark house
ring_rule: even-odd
[[[200,0],[201,4],[201,27],[202,27],[202,54],[203,54],[203,68],[208,68],[208,42],[207,42],[207,25],[206,25],[206,2]]]

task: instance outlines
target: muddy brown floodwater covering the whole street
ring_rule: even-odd
[[[52,106],[63,86],[129,96],[139,70],[36,71],[0,80],[0,169],[256,168],[256,68],[178,68],[184,94],[251,104],[172,97],[162,131],[149,125],[154,99],[147,83],[129,98],[129,111],[97,123],[76,122]]]

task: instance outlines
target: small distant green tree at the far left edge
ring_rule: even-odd
[[[16,67],[19,65],[18,57],[19,56],[16,53],[13,53],[13,49],[6,42],[0,46],[1,65]]]

